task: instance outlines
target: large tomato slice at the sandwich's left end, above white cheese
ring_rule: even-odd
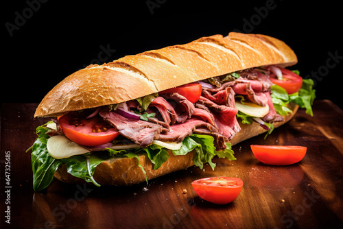
[[[119,135],[115,128],[102,118],[81,119],[64,115],[58,119],[67,138],[80,145],[95,146],[113,141]]]

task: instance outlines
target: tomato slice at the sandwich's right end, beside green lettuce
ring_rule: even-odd
[[[270,73],[270,81],[272,81],[273,84],[277,84],[287,91],[287,93],[293,94],[300,90],[301,84],[303,84],[303,78],[299,75],[296,75],[296,73],[289,71],[288,69],[280,68],[282,72],[282,80],[278,80],[276,75],[274,73]]]

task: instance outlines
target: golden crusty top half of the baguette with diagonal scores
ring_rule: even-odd
[[[270,36],[231,32],[203,37],[81,69],[47,93],[34,117],[118,104],[209,77],[270,64],[287,67],[297,61],[292,49]]]

